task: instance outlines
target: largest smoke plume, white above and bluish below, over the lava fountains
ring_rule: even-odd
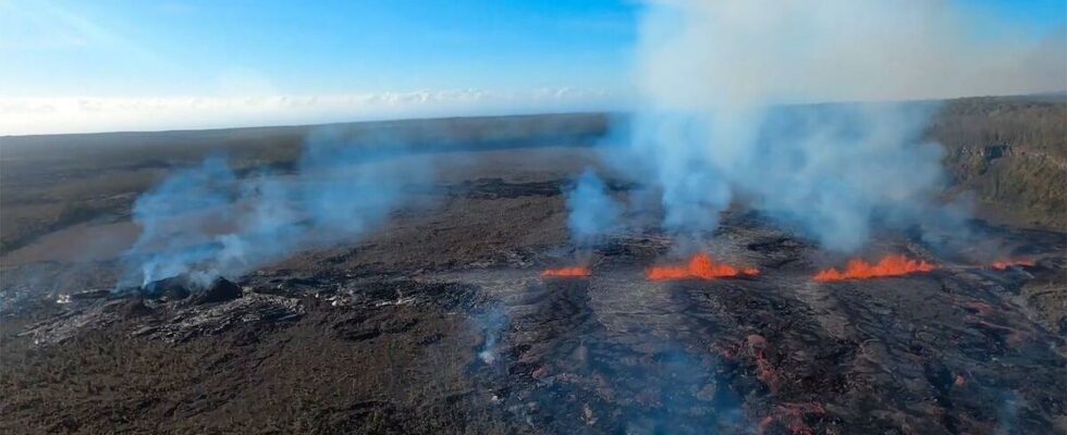
[[[931,217],[958,215],[934,206],[945,182],[941,148],[923,138],[934,104],[797,104],[1063,86],[1067,66],[1027,69],[1046,47],[978,35],[988,23],[976,16],[940,2],[650,4],[634,157],[615,161],[661,190],[663,226],[679,236],[714,229],[738,199],[841,251],[874,221],[951,226]]]

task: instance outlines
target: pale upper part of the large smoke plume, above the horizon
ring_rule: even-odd
[[[1019,32],[946,2],[665,1],[639,87],[676,108],[1064,90],[1067,29]]]

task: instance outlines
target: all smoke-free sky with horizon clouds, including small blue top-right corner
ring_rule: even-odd
[[[1047,38],[1067,21],[1063,0],[956,4],[1021,30],[1013,37]],[[610,108],[633,89],[642,8],[610,0],[0,0],[0,116],[19,115],[0,120],[0,134],[437,115],[453,105],[457,114]],[[327,109],[271,117],[246,107],[243,115],[218,116],[241,111],[234,98],[271,96],[285,99],[248,104]],[[381,101],[393,105],[376,112]],[[414,110],[412,101],[430,101],[419,107],[432,110]],[[174,104],[200,108],[205,117]],[[146,107],[170,114],[108,112]],[[50,115],[71,111],[85,119]],[[93,116],[102,112],[112,114]]]

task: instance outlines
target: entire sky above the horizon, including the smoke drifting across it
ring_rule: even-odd
[[[675,86],[660,98],[722,103],[1032,94],[1067,74],[1055,0],[686,3],[8,0],[0,135],[625,110],[652,77]],[[744,20],[700,24],[721,12]],[[649,53],[666,30],[685,35]],[[679,61],[649,55],[690,50],[676,73],[718,89],[654,76]]]

